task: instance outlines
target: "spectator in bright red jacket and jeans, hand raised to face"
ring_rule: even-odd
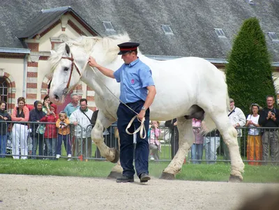
[[[56,114],[56,105],[52,103],[50,105],[50,112],[47,112],[47,115],[40,119],[41,122],[54,122],[58,119],[58,114]],[[47,142],[47,156],[55,156],[56,149],[56,138],[57,138],[57,129],[55,124],[46,124],[45,125],[45,141]],[[51,158],[54,160],[54,158]]]

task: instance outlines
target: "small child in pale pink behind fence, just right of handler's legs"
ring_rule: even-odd
[[[158,151],[161,151],[161,144],[159,141],[159,135],[161,130],[158,128],[158,121],[151,121],[151,128],[149,129],[149,149],[150,149],[150,160],[159,160]]]

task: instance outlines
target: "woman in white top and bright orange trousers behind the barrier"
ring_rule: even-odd
[[[259,135],[259,105],[252,103],[250,112],[246,121],[246,126],[249,127],[247,137],[247,159],[261,160],[262,140]],[[255,156],[255,158],[254,158]],[[260,165],[258,162],[248,162],[249,165]]]

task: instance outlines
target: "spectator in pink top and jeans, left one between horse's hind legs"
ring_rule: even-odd
[[[202,121],[199,119],[193,118],[193,127],[198,127],[198,128],[193,128],[194,135],[195,135],[195,142],[191,147],[191,159],[193,160],[193,164],[201,163],[201,161],[197,160],[202,160],[202,154],[204,150],[204,137],[199,133],[200,126],[202,126]]]

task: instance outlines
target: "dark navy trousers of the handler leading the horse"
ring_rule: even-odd
[[[127,105],[135,110],[135,112],[140,113],[144,101],[140,100],[135,103],[127,103]],[[128,135],[126,133],[126,128],[130,120],[135,117],[135,113],[132,112],[128,107],[120,104],[117,110],[117,128],[119,130],[120,137],[120,163],[123,167],[123,176],[133,177],[135,170],[137,176],[140,177],[142,173],[149,173],[149,141],[146,134],[146,138],[140,138],[140,132],[137,133],[137,144],[135,147],[135,170],[133,166],[134,157],[134,144],[133,135]],[[129,128],[129,132],[133,133],[135,129],[140,127],[140,121],[135,119],[133,125]],[[149,130],[149,109],[146,110],[144,127],[146,132]]]

